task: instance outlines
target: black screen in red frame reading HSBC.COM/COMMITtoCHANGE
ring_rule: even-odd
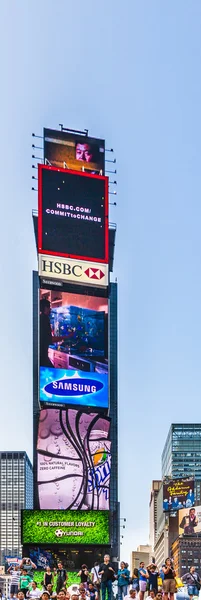
[[[38,167],[38,252],[108,263],[108,178]]]

